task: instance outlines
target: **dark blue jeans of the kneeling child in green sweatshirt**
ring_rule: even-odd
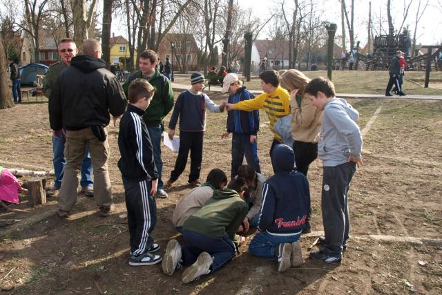
[[[222,238],[209,238],[195,231],[184,230],[182,236],[187,244],[181,248],[182,265],[195,263],[198,255],[205,251],[213,257],[211,272],[215,272],[236,255],[235,244],[227,234]]]

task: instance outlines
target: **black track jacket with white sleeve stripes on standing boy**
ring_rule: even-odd
[[[118,168],[127,180],[157,179],[151,137],[143,121],[143,114],[140,108],[129,104],[119,121],[118,148],[122,158],[118,161]]]

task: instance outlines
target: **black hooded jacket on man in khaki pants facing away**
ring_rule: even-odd
[[[115,75],[102,59],[79,55],[61,71],[49,97],[50,128],[80,130],[107,126],[124,113],[127,101]]]

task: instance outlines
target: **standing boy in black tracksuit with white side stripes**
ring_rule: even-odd
[[[128,108],[119,122],[118,161],[126,195],[127,220],[131,244],[129,265],[160,263],[153,255],[160,245],[153,242],[151,232],[157,222],[155,193],[157,169],[153,160],[152,142],[142,115],[151,103],[155,88],[145,79],[135,79],[128,90]]]

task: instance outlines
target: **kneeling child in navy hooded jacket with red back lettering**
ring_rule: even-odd
[[[278,272],[302,264],[299,238],[310,208],[309,183],[296,172],[295,153],[278,144],[272,151],[275,175],[262,188],[258,234],[249,245],[250,254],[278,260]]]

